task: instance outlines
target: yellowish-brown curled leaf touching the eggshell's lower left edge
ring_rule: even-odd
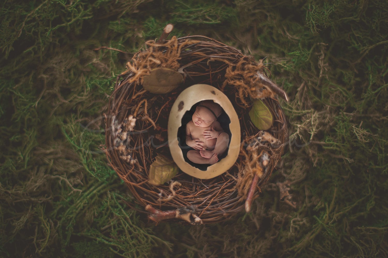
[[[157,155],[149,170],[149,183],[163,185],[178,173],[178,166],[171,159]]]

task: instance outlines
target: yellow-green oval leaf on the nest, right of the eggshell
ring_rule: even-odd
[[[249,111],[249,117],[259,130],[268,130],[274,121],[271,111],[269,111],[268,107],[260,99],[253,101],[252,109]]]

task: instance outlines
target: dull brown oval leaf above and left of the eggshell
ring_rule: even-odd
[[[144,77],[143,87],[146,91],[155,94],[165,94],[173,91],[183,82],[183,76],[167,68],[156,68]]]

